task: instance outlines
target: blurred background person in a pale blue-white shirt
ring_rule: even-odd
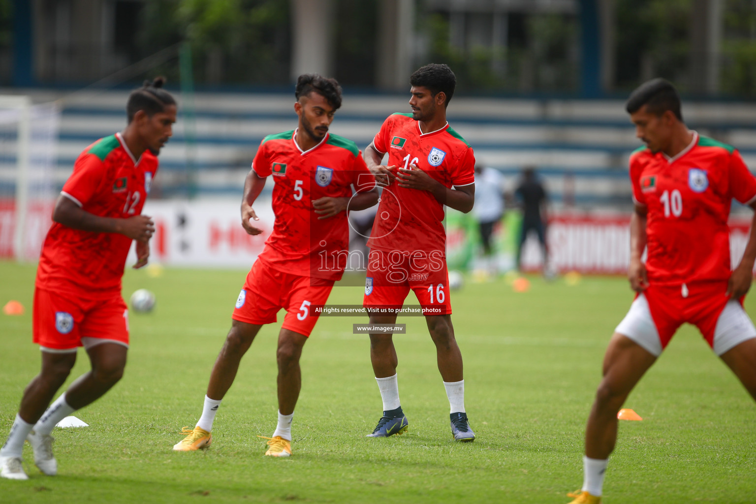
[[[497,258],[491,247],[491,235],[494,225],[504,215],[503,177],[498,170],[476,165],[476,202],[472,207],[472,215],[478,221],[480,241],[483,246],[485,267],[492,275],[497,274]],[[487,264],[486,264],[487,263]]]

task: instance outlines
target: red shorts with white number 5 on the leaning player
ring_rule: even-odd
[[[284,308],[283,329],[309,337],[318,322],[318,314],[312,313],[310,306],[325,305],[331,289],[333,280],[283,273],[258,259],[246,275],[231,317],[256,325],[274,323]]]

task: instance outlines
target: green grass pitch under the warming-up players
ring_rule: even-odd
[[[23,388],[39,370],[31,343],[33,265],[0,263],[0,438]],[[122,382],[76,413],[91,426],[56,429],[59,474],[24,458],[26,482],[0,481],[0,502],[568,502],[582,482],[585,419],[603,351],[632,300],[621,278],[577,286],[531,278],[515,293],[503,280],[453,292],[465,363],[466,410],[478,438],[451,439],[448,401],[422,318],[396,335],[401,404],[410,431],[368,439],[381,413],[364,318],[322,317],[302,355],[293,456],[262,456],[276,421],[275,342],[266,326],[242,362],[204,452],[174,453],[178,431],[201,413],[245,271],[129,270],[125,297],[156,293],[152,314],[130,317]],[[333,304],[360,303],[339,287]],[[746,303],[756,314],[752,295]],[[283,317],[279,317],[282,320]],[[69,382],[88,369],[79,362]],[[65,387],[64,387],[65,388]],[[621,422],[604,502],[756,502],[756,407],[734,376],[686,326],[627,402],[643,422]]]

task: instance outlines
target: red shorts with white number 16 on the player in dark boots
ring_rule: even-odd
[[[445,255],[371,250],[365,278],[364,308],[398,309],[410,290],[423,314],[451,315]]]

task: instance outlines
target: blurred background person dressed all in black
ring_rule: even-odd
[[[533,231],[543,250],[543,270],[547,271],[549,249],[546,245],[546,206],[548,195],[541,181],[535,175],[535,169],[527,166],[522,170],[522,183],[515,190],[515,196],[522,205],[522,228],[517,244],[517,269],[522,271],[522,246]]]

